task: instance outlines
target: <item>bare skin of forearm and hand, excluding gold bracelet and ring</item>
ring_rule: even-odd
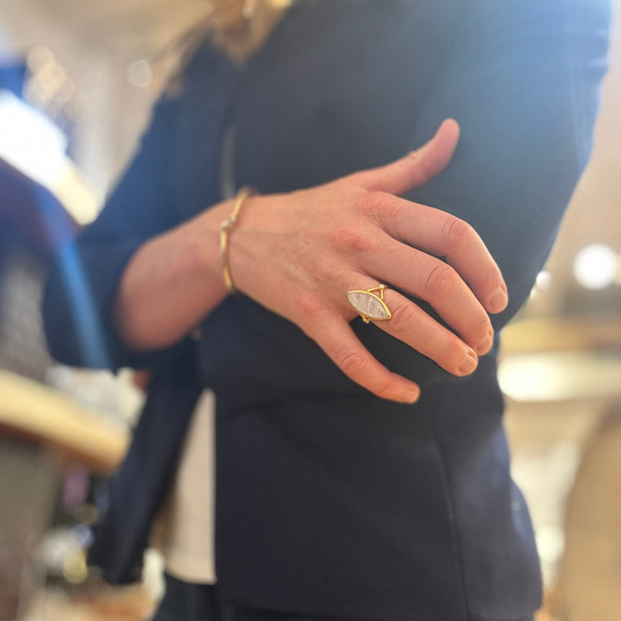
[[[459,139],[452,119],[422,148],[391,164],[294,193],[250,197],[230,231],[236,288],[302,328],[348,377],[375,395],[414,402],[420,388],[391,373],[359,342],[346,292],[384,282],[431,304],[457,335],[395,290],[393,317],[377,328],[467,375],[491,348],[488,313],[507,304],[489,251],[466,222],[399,198],[451,160]],[[137,351],[169,346],[226,297],[219,264],[224,201],[151,239],[130,260],[115,318]],[[443,257],[440,260],[437,257]],[[162,295],[162,292],[166,295]]]

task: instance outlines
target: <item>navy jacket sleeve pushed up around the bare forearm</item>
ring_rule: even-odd
[[[43,323],[52,355],[75,366],[157,366],[187,343],[166,351],[128,351],[112,321],[121,273],[147,239],[175,226],[168,153],[177,102],[155,107],[137,155],[98,219],[63,248],[43,296]]]

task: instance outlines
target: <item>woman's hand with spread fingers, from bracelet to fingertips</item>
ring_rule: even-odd
[[[449,119],[393,164],[309,190],[251,197],[230,233],[237,289],[297,324],[348,377],[386,399],[413,402],[420,388],[391,373],[355,336],[349,290],[385,283],[431,304],[457,335],[390,288],[384,299],[392,317],[376,326],[453,375],[474,371],[477,355],[492,344],[487,313],[506,306],[500,270],[473,228],[398,198],[441,172],[458,139]]]

